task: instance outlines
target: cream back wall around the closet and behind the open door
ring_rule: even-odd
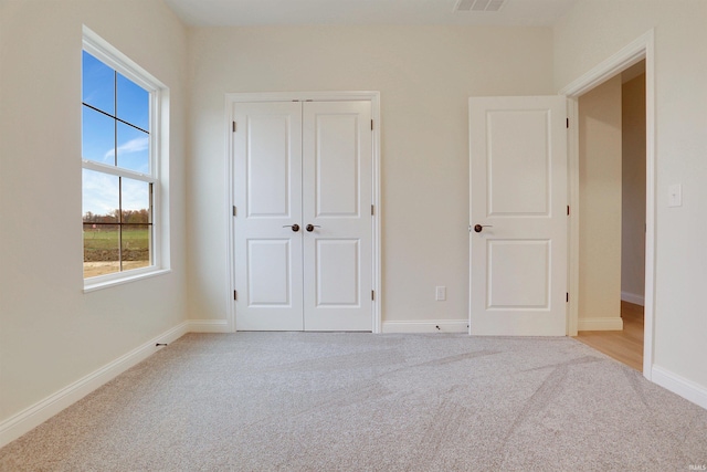
[[[466,318],[467,98],[550,94],[549,29],[204,28],[189,46],[193,317],[226,317],[224,94],[370,90],[382,111],[383,322]]]

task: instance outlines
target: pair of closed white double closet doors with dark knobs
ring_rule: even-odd
[[[236,329],[371,331],[371,103],[233,116]]]

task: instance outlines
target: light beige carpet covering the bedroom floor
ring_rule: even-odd
[[[707,410],[571,338],[190,334],[2,471],[688,471]],[[693,469],[695,470],[695,469]]]

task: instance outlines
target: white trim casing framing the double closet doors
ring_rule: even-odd
[[[372,156],[372,187],[371,196],[373,212],[373,230],[372,230],[372,286],[376,291],[376,297],[372,303],[372,332],[381,333],[382,319],[382,283],[381,283],[381,191],[380,191],[380,143],[381,143],[381,114],[380,114],[380,92],[374,91],[348,91],[348,92],[256,92],[256,93],[226,93],[225,94],[225,113],[224,113],[224,136],[225,136],[225,216],[226,216],[226,323],[230,332],[235,332],[235,301],[233,300],[233,290],[235,286],[235,266],[233,264],[233,220],[232,208],[233,201],[233,164],[231,156],[233,154],[233,134],[231,133],[231,123],[233,122],[233,104],[235,103],[253,103],[253,102],[291,102],[291,101],[317,101],[317,102],[344,102],[344,101],[370,101],[371,117],[373,119],[373,156]]]

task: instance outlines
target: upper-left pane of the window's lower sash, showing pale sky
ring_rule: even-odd
[[[83,169],[83,216],[86,223],[117,223],[119,178]]]

